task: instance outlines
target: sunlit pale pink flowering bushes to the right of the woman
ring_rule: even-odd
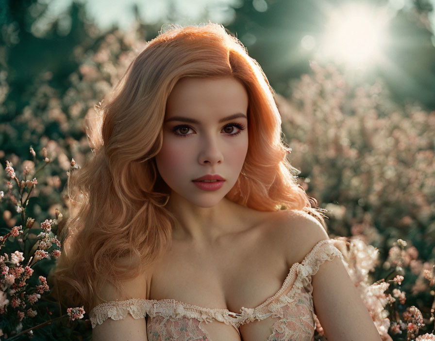
[[[329,211],[331,238],[350,236],[348,272],[383,339],[434,333],[434,112],[397,106],[380,79],[311,66],[276,96],[301,186]]]

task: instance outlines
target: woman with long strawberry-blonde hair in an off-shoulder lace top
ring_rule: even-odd
[[[102,108],[54,278],[93,340],[381,340],[222,26],[151,40]],[[327,261],[327,262],[326,262]]]

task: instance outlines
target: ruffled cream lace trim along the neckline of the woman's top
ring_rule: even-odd
[[[282,287],[276,294],[256,308],[242,307],[240,313],[234,313],[228,309],[204,308],[175,299],[147,300],[132,298],[124,301],[101,303],[90,311],[89,318],[92,328],[97,324],[102,324],[109,317],[112,320],[121,320],[127,316],[127,313],[130,313],[135,319],[144,318],[146,315],[151,317],[159,315],[174,318],[195,318],[199,321],[205,321],[205,323],[217,320],[226,325],[231,324],[238,329],[241,324],[254,320],[263,320],[276,313],[278,308],[288,304],[289,300],[293,300],[302,288],[305,288],[305,291],[311,295],[313,291],[311,276],[317,273],[322,263],[326,260],[333,260],[335,256],[343,259],[343,255],[335,248],[331,239],[319,241],[301,263],[292,265]],[[293,287],[290,292],[283,297],[283,292],[292,284]],[[279,299],[276,300],[277,298]]]

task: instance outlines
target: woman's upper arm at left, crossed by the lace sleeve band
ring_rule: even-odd
[[[105,283],[101,295],[108,301],[125,300],[129,298],[146,298],[147,280],[145,276],[138,276],[124,282],[125,292],[132,297],[120,297],[111,283]],[[100,304],[102,302],[98,302]],[[147,323],[145,318],[134,319],[130,313],[121,320],[108,318],[101,325],[92,329],[92,341],[148,341]]]

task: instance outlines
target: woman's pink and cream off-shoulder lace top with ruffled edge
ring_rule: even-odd
[[[242,336],[250,341],[313,341],[316,324],[311,276],[322,263],[336,256],[343,259],[331,239],[319,241],[301,263],[292,265],[276,294],[258,307],[242,307],[239,313],[199,307],[175,299],[132,298],[101,303],[90,311],[89,317],[94,328],[109,317],[121,320],[128,313],[134,319],[148,315],[149,341],[228,340],[231,335],[228,334],[229,325],[238,333],[236,339]],[[225,333],[222,327],[226,328]]]

